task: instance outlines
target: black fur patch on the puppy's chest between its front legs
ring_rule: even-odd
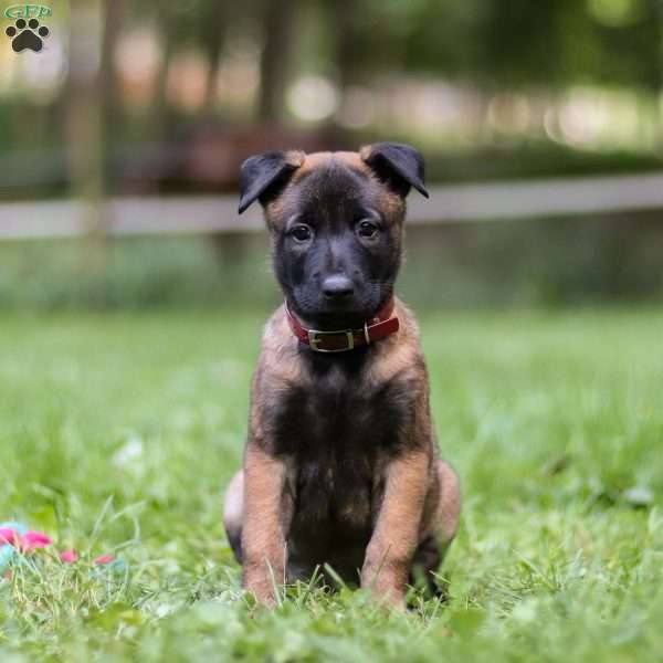
[[[408,411],[398,383],[369,387],[340,371],[284,397],[275,445],[291,461],[301,525],[370,527],[383,469],[402,444]]]

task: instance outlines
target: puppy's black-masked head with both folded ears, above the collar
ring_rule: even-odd
[[[255,200],[264,207],[295,313],[323,329],[360,326],[391,295],[412,187],[428,197],[423,158],[407,145],[267,152],[242,165],[240,213]]]

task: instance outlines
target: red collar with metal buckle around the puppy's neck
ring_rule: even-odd
[[[337,329],[335,332],[318,332],[317,329],[307,329],[291,313],[287,302],[285,303],[285,313],[293,334],[304,344],[311,346],[311,349],[318,352],[345,352],[358,346],[370,345],[380,338],[394,334],[399,329],[398,317],[393,314],[393,296],[377,313],[377,315],[364,323],[361,329]]]

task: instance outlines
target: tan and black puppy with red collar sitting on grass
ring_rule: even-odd
[[[417,323],[393,296],[412,187],[428,197],[423,159],[393,143],[242,166],[240,212],[262,203],[285,296],[225,495],[228,538],[261,602],[329,565],[402,607],[455,535],[459,482],[439,457]]]

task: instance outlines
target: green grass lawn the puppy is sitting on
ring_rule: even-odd
[[[0,579],[1,661],[662,659],[663,313],[422,316],[465,505],[450,603],[409,614],[240,590],[222,490],[263,318],[0,317],[0,520],[55,539]]]

